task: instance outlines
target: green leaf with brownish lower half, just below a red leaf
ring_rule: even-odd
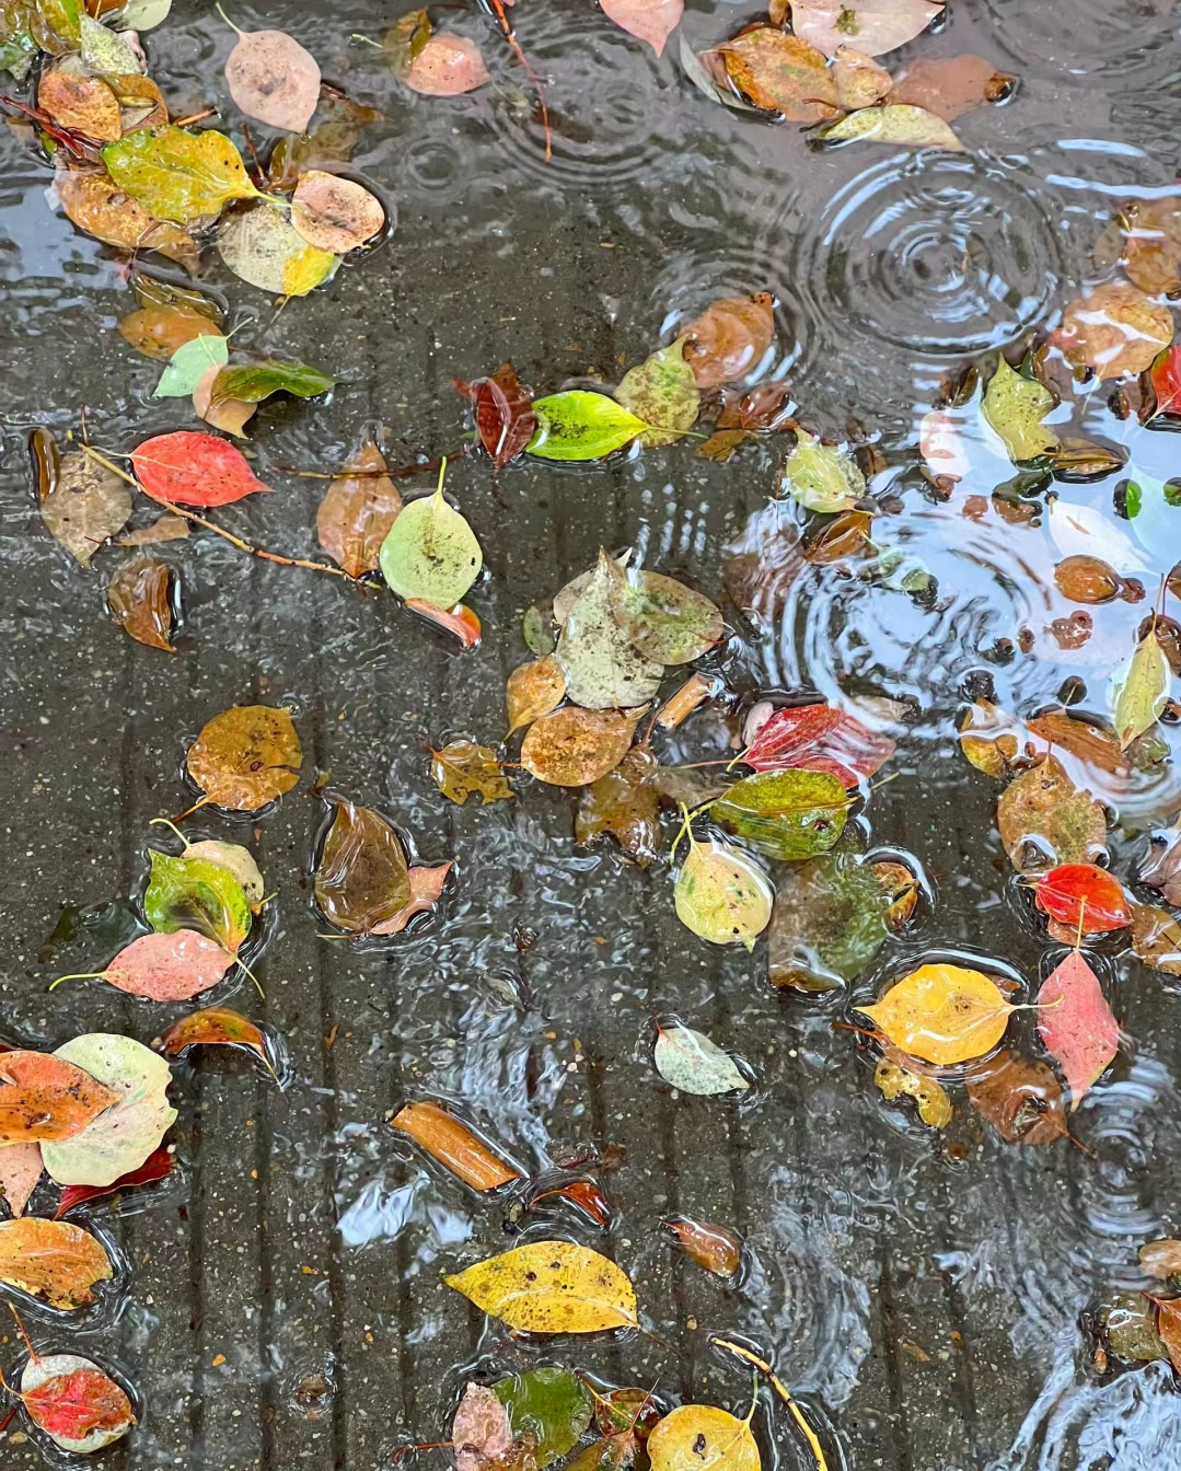
[[[763,771],[735,781],[710,811],[760,853],[793,861],[832,847],[849,796],[827,771]]]

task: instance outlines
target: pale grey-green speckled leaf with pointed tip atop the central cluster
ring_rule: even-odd
[[[644,658],[615,618],[619,568],[600,547],[599,565],[578,594],[557,640],[566,694],[588,710],[644,705],[660,688],[663,663]]]

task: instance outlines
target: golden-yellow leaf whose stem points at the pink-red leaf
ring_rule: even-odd
[[[857,1006],[896,1047],[950,1066],[990,1052],[1013,1011],[994,981],[960,965],[921,965],[875,1006]]]

